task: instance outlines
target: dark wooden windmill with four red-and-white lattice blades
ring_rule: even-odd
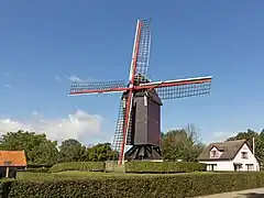
[[[152,20],[138,20],[129,82],[73,82],[69,95],[122,92],[112,147],[119,152],[119,165],[125,160],[161,160],[162,99],[206,95],[211,76],[151,81],[147,67],[151,50]],[[124,152],[125,145],[131,145]]]

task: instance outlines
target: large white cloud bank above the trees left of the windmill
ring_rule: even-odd
[[[33,111],[32,114],[40,114]],[[59,119],[36,119],[33,121],[15,121],[11,119],[0,120],[0,133],[29,130],[33,132],[46,133],[51,140],[62,142],[65,139],[77,139],[80,142],[90,141],[101,136],[101,117],[88,114],[77,110],[67,118]]]

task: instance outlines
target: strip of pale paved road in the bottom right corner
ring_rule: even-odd
[[[264,188],[255,188],[242,191],[217,194],[197,198],[264,198]]]

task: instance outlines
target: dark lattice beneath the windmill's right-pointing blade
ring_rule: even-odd
[[[155,88],[158,97],[163,100],[207,95],[210,92],[211,82],[187,84],[172,87]]]

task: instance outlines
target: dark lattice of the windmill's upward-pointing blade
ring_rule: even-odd
[[[142,20],[141,21],[141,32],[140,32],[140,43],[139,52],[136,57],[136,70],[135,75],[141,74],[142,76],[147,75],[147,67],[150,62],[151,54],[151,24],[152,20]]]

